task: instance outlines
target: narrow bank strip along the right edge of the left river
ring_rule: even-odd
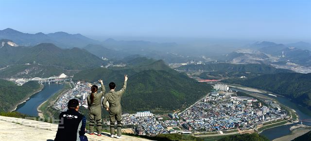
[[[47,108],[49,108],[50,106],[52,106],[57,99],[64,93],[68,92],[70,90],[70,85],[69,83],[65,83],[64,87],[59,90],[58,92],[56,92],[53,96],[51,96],[50,98],[48,98],[46,101],[44,101],[43,103],[41,103],[38,107],[37,107],[37,111],[38,111],[38,116],[40,118],[48,118],[51,117],[51,113],[47,110]]]

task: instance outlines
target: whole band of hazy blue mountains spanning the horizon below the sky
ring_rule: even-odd
[[[138,54],[147,58],[163,60],[167,63],[185,63],[191,60],[205,62],[212,60],[210,58],[214,57],[214,59],[227,61],[228,63],[290,62],[311,66],[311,44],[306,42],[292,44],[276,44],[267,41],[256,42],[245,46],[244,48],[246,49],[234,51],[225,57],[215,57],[211,55],[213,54],[211,52],[219,51],[219,48],[222,48],[222,46],[201,47],[191,50],[190,47],[183,47],[176,43],[117,41],[111,38],[100,42],[81,34],[69,34],[66,32],[29,34],[9,28],[0,31],[0,39],[4,39],[0,47],[3,47],[5,43],[11,43],[9,41],[14,41],[16,43],[15,47],[18,45],[33,47],[41,43],[52,43],[60,48],[83,48],[99,58],[107,58],[110,61],[120,61],[127,56]],[[289,47],[290,49],[286,49]],[[297,49],[292,49],[293,47]],[[229,48],[225,50],[229,50]],[[203,57],[204,55],[207,55],[207,57]],[[0,61],[1,63],[3,64],[3,61]]]

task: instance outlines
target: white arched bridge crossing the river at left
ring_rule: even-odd
[[[49,84],[51,82],[60,82],[60,81],[64,81],[67,80],[68,76],[66,76],[65,74],[61,74],[58,77],[50,77],[50,78],[31,78],[31,79],[17,79],[15,80],[15,83],[17,83],[18,85],[23,85],[24,83],[28,82],[28,81],[38,81],[39,83],[46,83],[48,82]]]

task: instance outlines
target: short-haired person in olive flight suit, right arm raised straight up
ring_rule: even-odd
[[[118,139],[121,138],[121,128],[122,128],[122,111],[121,111],[121,97],[122,94],[125,92],[126,89],[126,82],[127,82],[127,75],[124,75],[124,84],[120,91],[115,91],[116,84],[114,82],[109,83],[110,91],[105,94],[103,105],[107,111],[109,111],[109,118],[110,118],[110,137],[115,136],[115,123],[117,121],[117,137]],[[109,105],[107,105],[107,101]]]

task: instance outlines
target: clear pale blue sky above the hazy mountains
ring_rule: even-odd
[[[0,0],[0,30],[311,41],[311,0]]]

